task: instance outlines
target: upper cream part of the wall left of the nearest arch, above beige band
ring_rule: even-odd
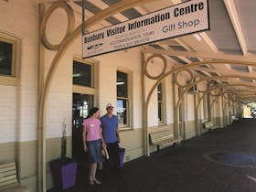
[[[16,136],[15,123],[3,121],[10,128],[9,135],[5,135],[8,141],[30,141],[37,139],[37,4],[34,1],[21,0],[18,2],[0,2],[0,31],[22,39],[22,53],[19,61],[20,79],[16,87],[1,86],[1,104],[5,108],[5,115],[12,122],[18,121],[18,130],[22,130]],[[29,26],[27,25],[29,23]],[[25,27],[27,26],[27,27]],[[7,102],[5,100],[8,100]],[[19,102],[16,108],[16,101]],[[10,112],[12,112],[10,114]],[[5,140],[0,140],[0,143]]]

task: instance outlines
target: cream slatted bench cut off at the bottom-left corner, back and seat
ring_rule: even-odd
[[[0,163],[0,192],[30,192],[17,182],[15,162]]]

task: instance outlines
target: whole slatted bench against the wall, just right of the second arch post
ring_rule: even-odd
[[[155,132],[155,133],[149,133],[149,142],[150,144],[156,144],[157,145],[157,152],[160,150],[161,146],[166,146],[170,144],[175,144],[177,140],[175,140],[175,136],[173,133],[171,133],[168,130]]]

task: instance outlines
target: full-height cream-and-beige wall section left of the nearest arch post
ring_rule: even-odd
[[[0,86],[0,162],[16,161],[23,185],[37,188],[37,2],[0,1],[0,36],[20,39],[16,86]],[[29,168],[28,168],[29,165]]]

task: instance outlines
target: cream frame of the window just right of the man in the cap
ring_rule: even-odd
[[[116,83],[117,83],[117,72],[122,72],[127,74],[127,98],[125,97],[118,97],[117,96],[117,84],[116,84],[116,103],[118,100],[126,100],[126,120],[127,123],[120,125],[118,124],[118,127],[120,130],[130,130],[132,129],[132,76],[133,72],[128,69],[123,68],[117,68],[116,69]]]

